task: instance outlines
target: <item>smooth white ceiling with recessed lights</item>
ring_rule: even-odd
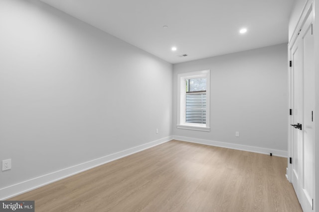
[[[294,0],[41,0],[171,64],[288,43]],[[163,26],[167,28],[163,28]],[[247,28],[240,34],[241,28]],[[175,52],[171,51],[176,47]],[[187,57],[179,57],[186,54]]]

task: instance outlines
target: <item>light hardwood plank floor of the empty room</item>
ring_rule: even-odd
[[[169,141],[27,192],[36,212],[302,212],[287,158]]]

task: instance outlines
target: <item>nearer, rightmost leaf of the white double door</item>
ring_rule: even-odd
[[[300,203],[304,212],[313,210],[315,196],[315,61],[314,61],[314,35],[313,18],[310,15],[302,31],[300,39],[303,43],[304,57],[304,141],[302,142]]]

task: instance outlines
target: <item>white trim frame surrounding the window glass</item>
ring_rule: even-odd
[[[206,124],[194,124],[185,122],[186,90],[185,80],[191,78],[206,77]],[[180,73],[177,75],[177,128],[185,130],[210,131],[210,70]]]

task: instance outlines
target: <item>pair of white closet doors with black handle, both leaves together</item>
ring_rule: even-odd
[[[291,124],[295,125],[291,131],[291,182],[304,212],[313,211],[315,196],[315,72],[312,21],[313,12],[310,12],[291,48]]]

